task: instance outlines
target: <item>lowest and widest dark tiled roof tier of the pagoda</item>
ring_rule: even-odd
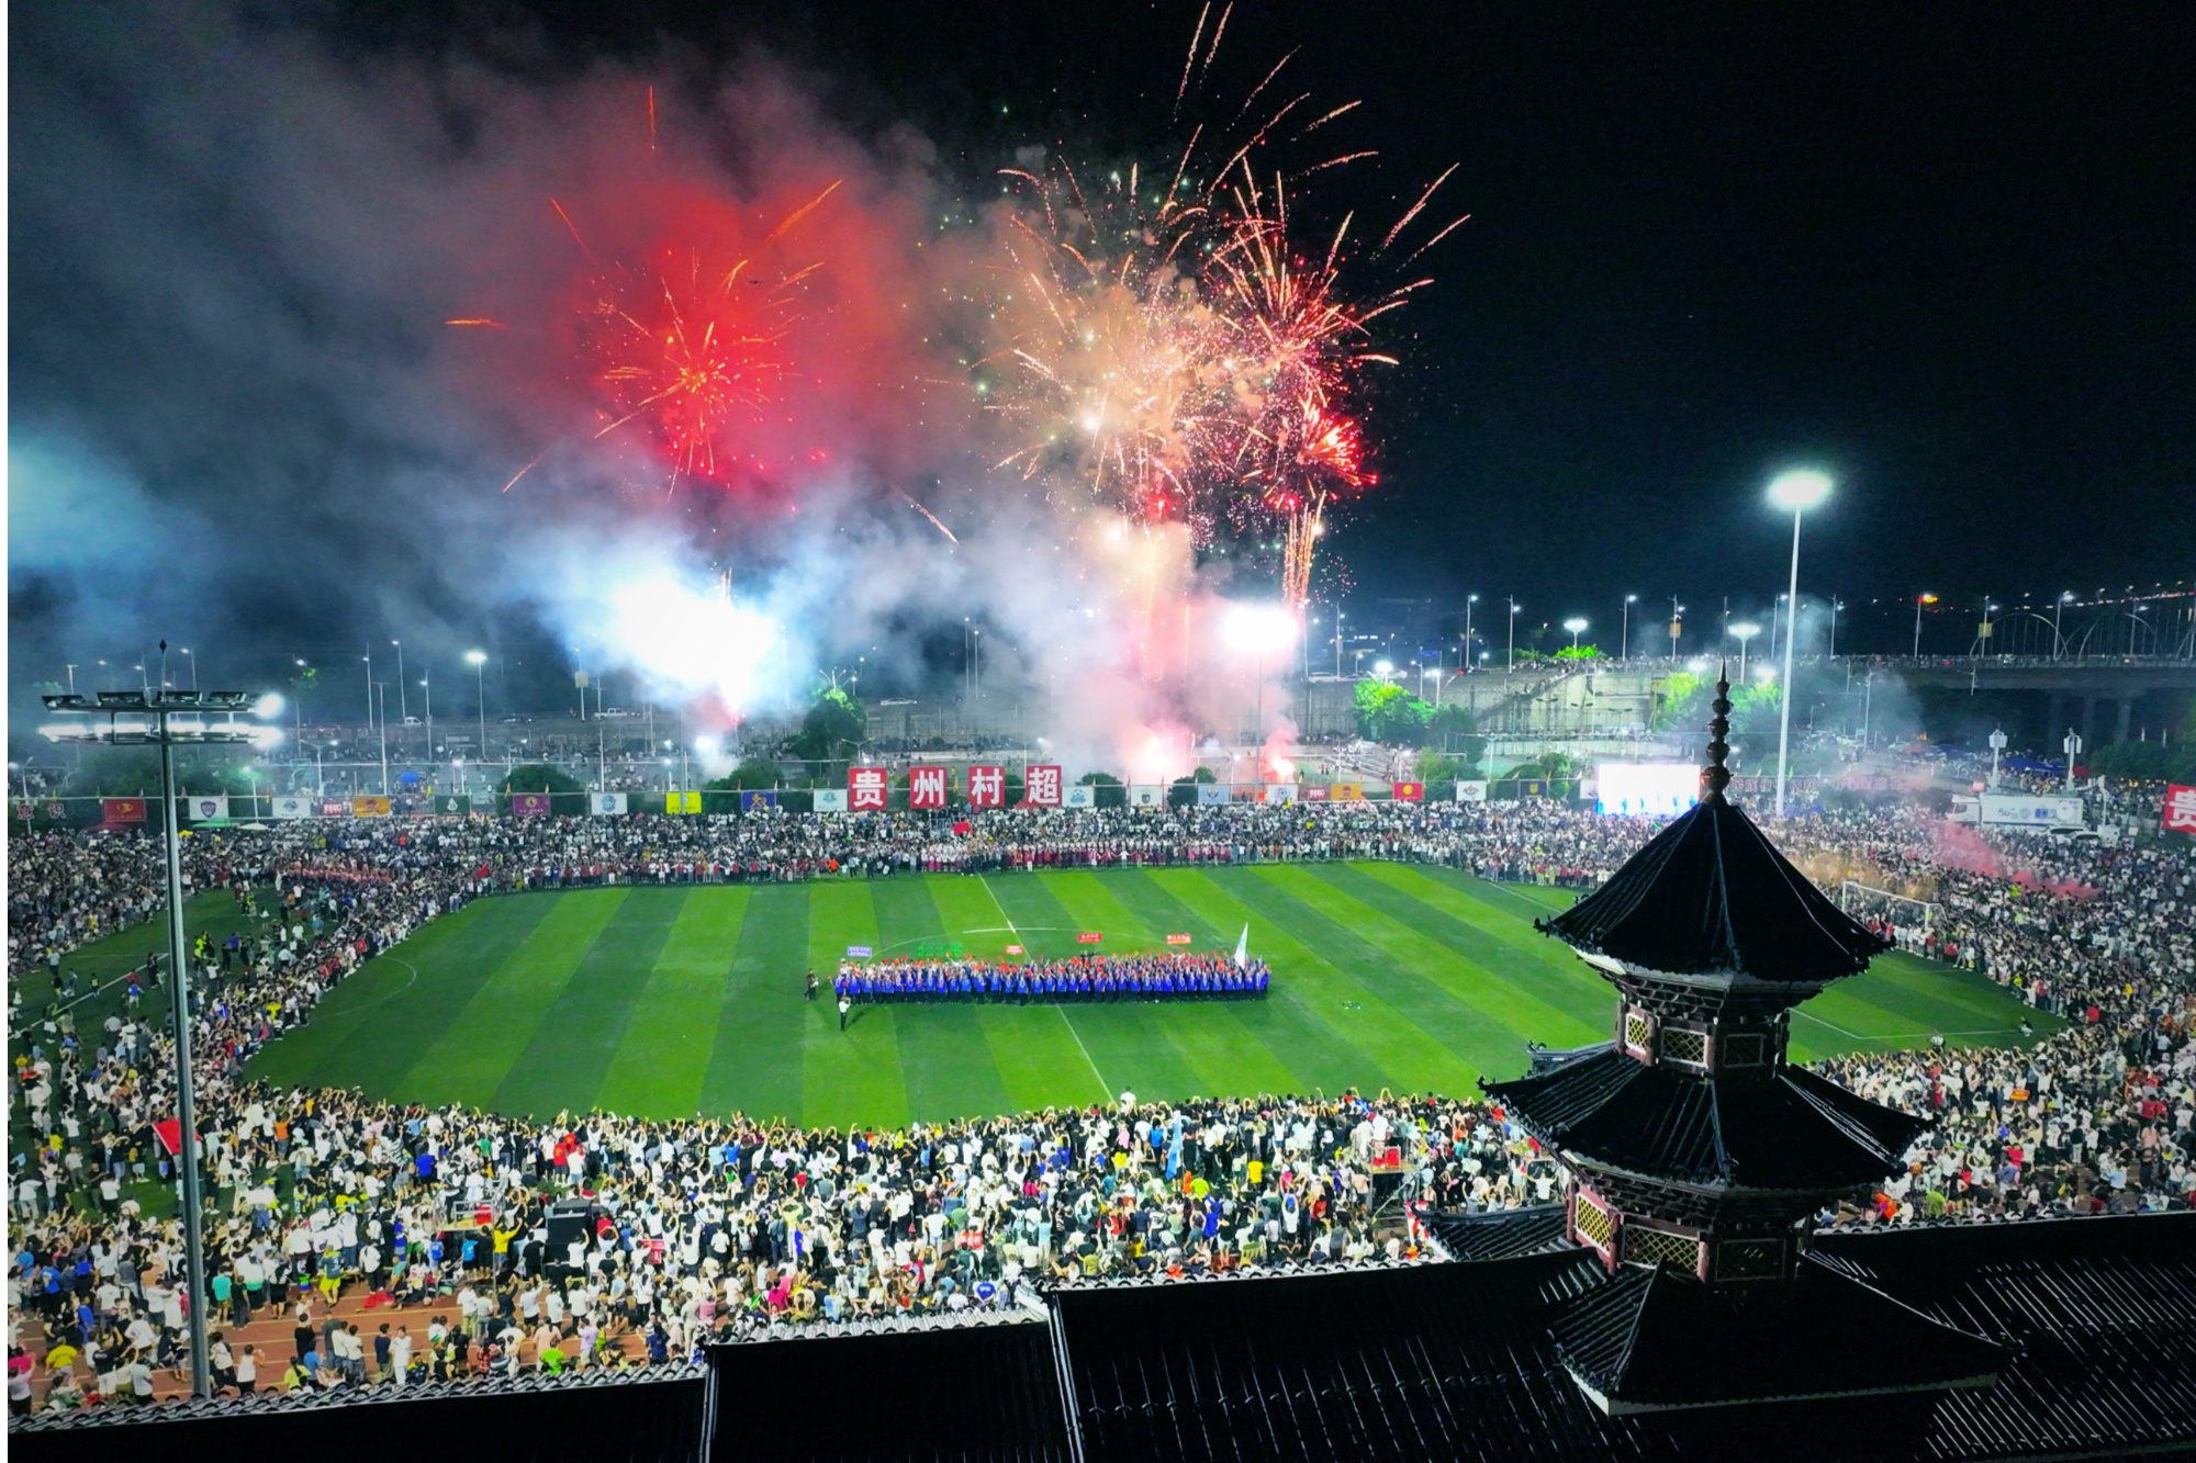
[[[1812,1257],[1792,1285],[1744,1289],[1625,1267],[1550,1331],[1605,1412],[1990,1386],[2012,1360]]]

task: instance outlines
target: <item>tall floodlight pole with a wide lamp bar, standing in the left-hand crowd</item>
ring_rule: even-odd
[[[167,641],[160,641],[167,650]],[[169,1026],[176,1041],[176,1155],[182,1164],[182,1237],[184,1276],[191,1285],[191,1395],[213,1395],[213,1373],[206,1369],[206,1246],[200,1232],[204,1210],[198,1186],[198,1112],[191,1087],[191,964],[189,945],[182,929],[182,833],[176,826],[176,747],[268,747],[281,740],[281,727],[237,725],[239,712],[281,712],[281,696],[255,696],[250,692],[202,692],[202,690],[134,690],[97,692],[94,696],[44,696],[46,710],[57,716],[105,716],[105,725],[55,723],[42,734],[55,742],[94,742],[105,747],[158,747],[160,749],[160,826],[163,850],[167,852],[167,967],[169,967]],[[228,716],[226,723],[206,721],[206,714]]]

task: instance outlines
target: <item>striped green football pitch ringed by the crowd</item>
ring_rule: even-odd
[[[606,887],[485,898],[343,982],[250,1063],[270,1083],[356,1087],[509,1114],[773,1116],[900,1125],[1124,1087],[1144,1098],[1258,1092],[1476,1092],[1526,1041],[1601,1041],[1614,991],[1531,920],[1561,890],[1401,863],[900,876],[760,887]],[[193,914],[220,934],[228,901]],[[859,1006],[828,986],[850,945],[1001,956],[1250,947],[1263,1002]],[[127,969],[138,929],[79,951]],[[802,997],[815,969],[826,997]],[[44,984],[42,978],[35,984]],[[37,995],[33,991],[33,995]],[[1794,1054],[2018,1039],[2025,1006],[1968,971],[1886,956],[1794,1017]],[[2038,1037],[2058,1024],[2031,1015]]]

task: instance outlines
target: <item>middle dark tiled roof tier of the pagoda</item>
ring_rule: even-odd
[[[1614,1043],[1535,1052],[1533,1070],[1480,1083],[1528,1133],[1581,1162],[1680,1184],[1836,1191],[1900,1166],[1926,1118],[1803,1068],[1708,1081]]]

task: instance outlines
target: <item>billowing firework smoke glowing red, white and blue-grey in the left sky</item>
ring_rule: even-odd
[[[1212,633],[1175,529],[993,472],[993,231],[938,226],[914,132],[769,62],[514,81],[149,4],[13,40],[18,683],[160,635],[452,674],[534,622],[729,723],[971,617],[1063,756],[1164,775],[1289,663]],[[749,356],[672,389],[674,316]]]

